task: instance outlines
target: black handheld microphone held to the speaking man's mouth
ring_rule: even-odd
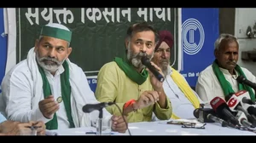
[[[142,57],[142,63],[144,66],[148,67],[148,70],[154,74],[154,77],[156,77],[161,83],[165,81],[165,78],[160,74],[160,72],[157,71],[157,69],[151,65],[150,60],[147,56]]]

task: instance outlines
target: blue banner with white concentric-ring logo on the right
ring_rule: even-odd
[[[212,64],[218,38],[218,9],[182,9],[181,73],[195,87],[199,73]]]

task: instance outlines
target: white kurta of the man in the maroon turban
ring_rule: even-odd
[[[174,83],[171,75],[172,69],[169,66],[166,80],[163,83],[163,88],[166,92],[167,97],[172,101],[172,112],[180,118],[195,118],[193,114],[195,107],[192,105],[189,99],[183,94],[182,90],[178,88],[177,84]],[[183,80],[186,81],[184,77]],[[195,95],[198,97],[196,93]],[[200,103],[202,103],[199,97],[198,99]]]

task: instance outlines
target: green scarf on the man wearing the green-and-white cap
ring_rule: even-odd
[[[62,66],[64,67],[65,71],[61,73],[61,97],[67,112],[67,120],[70,124],[70,128],[74,128],[73,117],[71,115],[71,104],[70,104],[71,87],[69,83],[69,68],[66,60],[63,62]],[[46,98],[51,94],[49,82],[47,80],[47,77],[45,76],[43,68],[41,66],[38,66],[38,69],[42,76],[44,98]],[[46,129],[58,129],[58,121],[57,121],[56,113],[54,114],[53,119],[50,120],[48,123],[45,123],[45,125],[46,125]]]

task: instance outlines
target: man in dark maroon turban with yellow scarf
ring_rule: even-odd
[[[173,36],[170,31],[159,31],[160,41],[155,46],[152,61],[160,67],[166,80],[163,83],[167,97],[172,101],[172,119],[195,118],[193,112],[202,103],[186,79],[170,66]],[[154,117],[153,117],[154,118]]]

